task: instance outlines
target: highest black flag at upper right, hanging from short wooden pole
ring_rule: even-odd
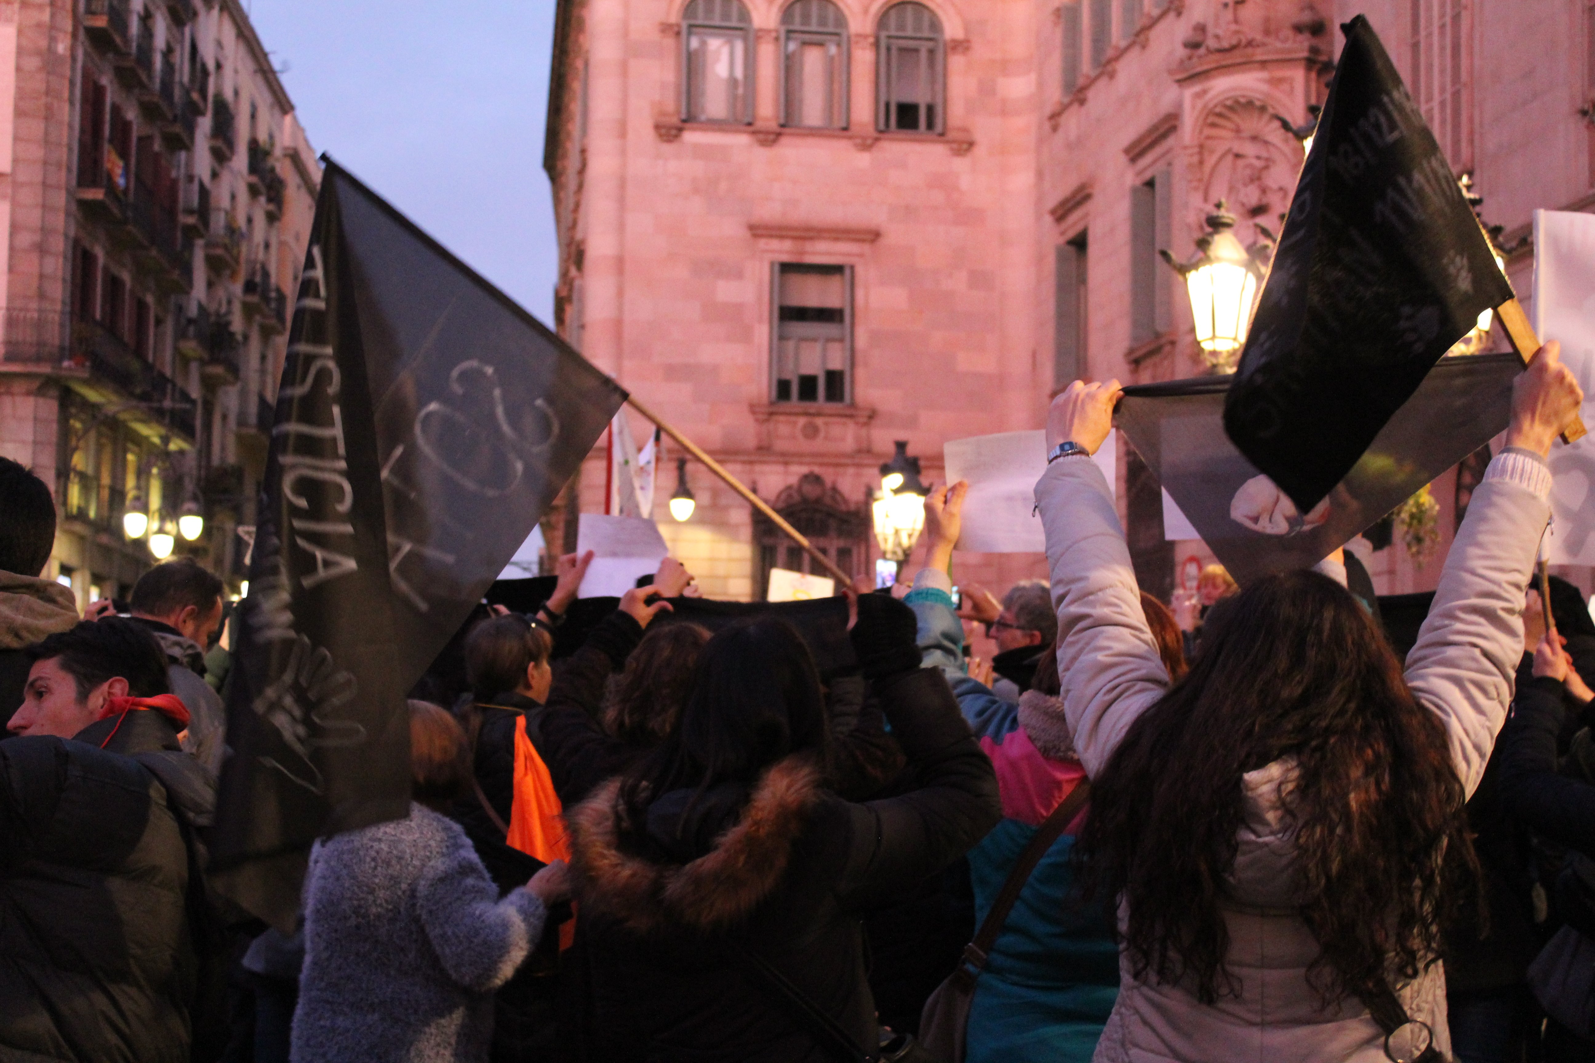
[[[1223,406],[1303,513],[1512,287],[1367,19],[1329,100]]]

